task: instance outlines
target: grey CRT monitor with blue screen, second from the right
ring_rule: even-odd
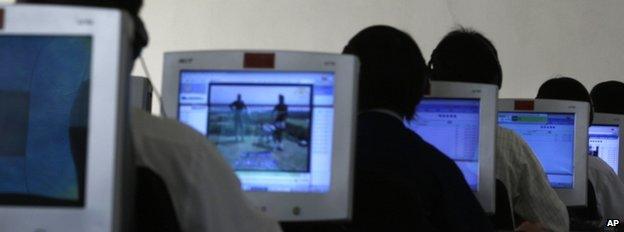
[[[589,103],[500,99],[498,124],[520,135],[568,206],[587,202]]]

